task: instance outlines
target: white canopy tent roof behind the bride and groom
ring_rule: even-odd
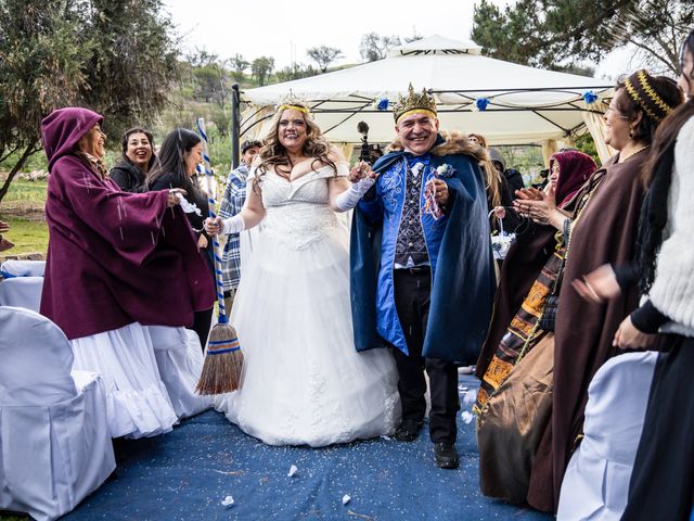
[[[542,144],[545,157],[557,140],[570,142],[588,129],[601,160],[607,158],[600,114],[611,86],[481,56],[480,50],[472,41],[432,36],[394,49],[384,60],[247,90],[241,97],[248,103],[242,139],[265,136],[274,106],[291,92],[309,103],[331,141],[359,142],[357,123],[363,120],[371,142],[389,142],[395,136],[391,106],[378,110],[378,102],[391,104],[411,82],[434,94],[441,129],[480,134],[492,144]],[[586,92],[596,94],[596,101],[587,103]]]

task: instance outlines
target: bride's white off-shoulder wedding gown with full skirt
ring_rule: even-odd
[[[217,408],[269,445],[387,435],[400,416],[390,353],[355,351],[349,233],[327,205],[332,176],[322,167],[292,182],[271,171],[260,181],[265,226],[252,262],[242,260],[231,313],[242,389]]]

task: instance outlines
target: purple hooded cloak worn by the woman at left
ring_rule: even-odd
[[[70,340],[136,321],[190,326],[213,306],[214,288],[185,214],[167,209],[168,191],[123,192],[74,154],[102,120],[68,107],[41,123],[50,171],[41,314]]]

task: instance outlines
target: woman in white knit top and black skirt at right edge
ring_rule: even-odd
[[[614,344],[653,348],[656,364],[622,520],[689,520],[694,490],[694,30],[682,45],[679,85],[686,102],[657,129],[643,170],[635,262],[603,266],[577,281],[588,300],[609,302],[638,287],[647,296],[619,326]],[[646,129],[651,131],[652,129]],[[637,283],[638,282],[638,283]],[[657,332],[664,333],[656,336]]]

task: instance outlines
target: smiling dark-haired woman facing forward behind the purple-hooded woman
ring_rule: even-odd
[[[144,180],[155,164],[152,132],[133,127],[123,135],[123,155],[111,169],[111,178],[124,192],[141,192]]]

